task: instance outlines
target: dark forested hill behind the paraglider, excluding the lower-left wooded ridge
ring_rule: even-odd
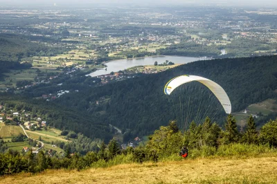
[[[143,75],[97,87],[93,85],[95,78],[71,77],[64,79],[62,87],[57,86],[54,80],[53,85],[28,89],[26,95],[37,97],[41,96],[43,91],[51,93],[51,89],[59,88],[79,90],[78,93],[69,93],[47,103],[53,107],[58,105],[87,114],[87,117],[90,117],[89,121],[77,121],[75,125],[78,127],[82,127],[84,123],[89,125],[91,122],[97,125],[111,124],[122,129],[125,140],[129,140],[136,136],[152,134],[154,129],[165,125],[169,120],[178,119],[173,108],[174,103],[169,102],[168,96],[163,93],[164,85],[173,77],[184,74],[199,75],[217,82],[229,95],[232,111],[235,112],[246,108],[249,104],[276,98],[274,92],[277,89],[276,60],[276,56],[204,60],[184,64],[162,73]],[[210,103],[206,100],[208,94],[203,94],[202,91],[191,91],[190,95],[197,104],[192,112],[197,111],[199,100],[202,100],[203,108]],[[183,105],[186,106],[186,103]],[[179,105],[179,102],[177,104]],[[37,105],[40,109],[44,109],[44,102],[37,102]],[[58,111],[62,113],[61,110]],[[224,116],[224,112],[220,112],[214,120],[222,125]],[[271,118],[274,117],[275,115],[271,115]],[[268,118],[264,118],[259,125],[267,120]],[[75,125],[68,125],[66,128],[75,132],[82,130],[78,128],[77,131]],[[85,136],[91,135],[88,129],[83,131],[81,132]]]

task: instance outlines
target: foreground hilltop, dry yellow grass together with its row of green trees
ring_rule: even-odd
[[[239,132],[229,115],[225,129],[206,118],[181,132],[171,121],[145,144],[120,149],[113,139],[84,156],[69,149],[62,157],[8,150],[0,154],[0,183],[274,183],[277,120],[257,131],[250,116],[246,131]],[[187,158],[179,156],[184,146]]]

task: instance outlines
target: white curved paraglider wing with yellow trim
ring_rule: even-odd
[[[172,91],[174,91],[178,86],[192,81],[201,82],[207,86],[208,89],[210,89],[216,98],[220,101],[225,112],[231,113],[231,102],[222,86],[204,77],[199,77],[196,75],[181,75],[179,77],[175,77],[166,84],[164,93],[166,93],[166,95],[170,95],[170,93],[172,93]]]

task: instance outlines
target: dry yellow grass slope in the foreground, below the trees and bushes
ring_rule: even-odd
[[[6,176],[0,183],[277,183],[277,155],[125,164],[81,172],[50,170]]]

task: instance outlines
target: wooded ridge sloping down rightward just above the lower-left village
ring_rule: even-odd
[[[71,129],[75,132],[82,132],[92,140],[100,138],[108,142],[112,138],[112,129],[107,123],[93,122],[97,115],[90,115],[86,111],[79,111],[59,104],[43,103],[42,100],[25,98],[20,95],[2,93],[0,104],[5,106],[8,116],[12,111],[30,112],[31,117],[39,117],[57,129]]]

